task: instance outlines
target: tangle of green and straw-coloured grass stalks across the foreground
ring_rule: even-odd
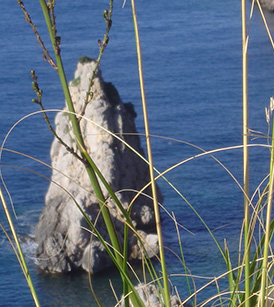
[[[98,204],[100,206],[100,212],[103,216],[103,220],[105,223],[105,227],[107,229],[110,244],[108,244],[99,231],[96,228],[96,224],[93,223],[85,212],[81,209],[81,206],[75,201],[75,205],[81,211],[83,217],[87,221],[91,232],[93,235],[102,242],[105,250],[107,251],[109,257],[111,258],[113,264],[117,267],[120,272],[121,281],[123,283],[123,298],[124,306],[145,306],[145,302],[142,300],[140,296],[140,292],[136,289],[136,282],[140,282],[140,276],[134,276],[132,274],[132,268],[128,263],[128,251],[127,251],[127,244],[128,244],[128,233],[129,231],[133,231],[136,234],[136,237],[144,250],[144,257],[143,263],[145,267],[145,271],[149,272],[151,283],[156,285],[156,289],[158,289],[158,295],[162,301],[162,306],[169,307],[171,306],[171,296],[170,296],[170,281],[169,277],[172,276],[171,273],[168,273],[167,266],[165,259],[165,247],[163,242],[163,234],[162,234],[162,224],[161,224],[161,217],[160,217],[160,204],[158,203],[157,199],[157,192],[156,192],[156,181],[159,178],[162,178],[167,181],[170,188],[174,189],[176,193],[186,202],[186,204],[194,211],[197,217],[201,220],[204,227],[207,229],[209,234],[211,235],[212,239],[216,243],[216,246],[220,252],[221,257],[223,258],[224,263],[226,264],[226,272],[222,275],[215,277],[214,279],[210,280],[206,285],[201,288],[196,288],[195,286],[195,277],[192,276],[191,272],[189,271],[187,264],[184,258],[184,251],[183,251],[183,244],[180,239],[180,227],[181,225],[177,222],[176,217],[170,214],[171,222],[174,223],[176,233],[178,236],[178,245],[180,254],[176,255],[176,257],[181,262],[182,266],[184,267],[185,274],[184,277],[186,279],[186,283],[189,289],[189,295],[185,295],[185,297],[181,300],[177,300],[176,306],[184,306],[185,304],[190,304],[192,306],[205,306],[205,305],[213,305],[213,302],[218,301],[220,306],[245,306],[245,307],[253,307],[253,306],[270,306],[271,300],[273,299],[272,291],[273,291],[273,263],[272,263],[272,254],[271,254],[271,239],[273,236],[274,231],[274,221],[272,220],[271,213],[272,213],[272,196],[273,196],[273,185],[274,185],[274,124],[272,123],[272,134],[269,135],[269,139],[271,139],[271,144],[266,144],[265,147],[270,148],[270,164],[269,164],[269,175],[266,180],[262,182],[263,192],[259,193],[261,186],[254,192],[252,196],[250,196],[250,188],[249,188],[249,148],[252,146],[263,146],[258,144],[249,144],[250,132],[249,124],[248,124],[248,42],[249,42],[249,26],[247,25],[247,21],[249,23],[252,20],[252,12],[254,9],[254,5],[258,5],[260,12],[262,14],[263,21],[265,23],[268,35],[270,37],[270,41],[272,46],[274,46],[270,31],[267,27],[266,20],[263,15],[263,10],[261,9],[260,3],[258,0],[253,0],[251,5],[251,12],[249,14],[249,19],[247,20],[246,14],[246,1],[242,0],[242,89],[243,89],[243,143],[238,146],[229,147],[229,148],[219,148],[211,151],[205,151],[202,148],[194,146],[192,144],[188,144],[190,146],[194,146],[200,151],[200,154],[195,156],[191,156],[188,159],[180,161],[176,165],[168,168],[164,172],[158,172],[153,164],[153,154],[151,149],[151,133],[149,128],[149,119],[148,119],[148,111],[147,111],[147,102],[146,102],[146,95],[145,95],[145,85],[144,85],[144,78],[143,78],[143,64],[142,64],[142,55],[141,55],[141,45],[140,45],[140,35],[138,30],[138,22],[137,22],[137,15],[136,15],[136,8],[135,8],[135,1],[131,0],[131,7],[132,7],[132,16],[133,16],[133,26],[135,30],[135,39],[136,39],[136,49],[137,49],[137,59],[138,59],[138,70],[139,70],[139,80],[140,80],[140,90],[141,90],[141,97],[142,97],[142,108],[143,108],[143,117],[144,117],[144,125],[145,125],[145,139],[147,145],[147,156],[148,159],[146,160],[144,157],[140,157],[145,160],[149,167],[150,172],[150,182],[140,191],[138,191],[137,195],[134,199],[132,199],[131,204],[129,205],[128,209],[124,209],[122,204],[120,203],[119,199],[117,198],[115,191],[112,190],[111,186],[108,184],[106,179],[104,178],[104,174],[100,172],[97,165],[94,163],[92,157],[88,154],[85,141],[82,137],[82,131],[80,126],[81,120],[89,120],[85,118],[85,109],[86,106],[92,101],[93,94],[91,91],[94,76],[96,70],[99,67],[99,63],[103,56],[104,50],[108,45],[108,35],[111,30],[112,26],[112,14],[113,14],[113,0],[110,0],[109,7],[103,13],[103,18],[106,22],[106,31],[104,33],[102,41],[100,41],[100,50],[98,54],[98,58],[96,60],[96,67],[93,71],[92,77],[90,79],[89,88],[86,93],[86,99],[83,102],[83,111],[81,114],[77,114],[74,109],[74,105],[71,99],[68,82],[66,79],[65,69],[63,67],[62,55],[61,55],[61,47],[60,47],[60,37],[57,35],[56,29],[56,16],[55,16],[55,0],[39,0],[41,10],[43,12],[43,16],[46,22],[46,27],[49,33],[50,41],[52,44],[52,52],[48,51],[45,47],[43,40],[41,39],[34,23],[31,20],[30,14],[24,7],[24,4],[20,0],[16,0],[19,6],[21,7],[25,19],[28,24],[31,26],[34,34],[37,37],[39,44],[43,50],[43,57],[44,59],[52,66],[54,70],[56,70],[60,83],[62,85],[64,97],[67,103],[68,111],[67,114],[69,116],[70,123],[72,125],[72,130],[74,133],[74,139],[77,144],[77,152],[70,148],[63,140],[60,138],[53,126],[50,123],[50,120],[47,116],[49,112],[46,110],[42,104],[42,90],[39,88],[37,77],[35,72],[32,71],[32,87],[36,94],[36,98],[33,100],[36,104],[40,107],[40,113],[43,114],[45,121],[48,124],[50,131],[54,134],[54,137],[58,138],[59,142],[67,148],[67,150],[74,155],[77,159],[79,159],[85,166],[86,172],[88,174],[89,180],[93,186],[94,192],[96,194]],[[271,126],[271,119],[273,120],[272,111],[273,107],[273,99],[271,100],[269,108],[266,109],[267,114],[267,122]],[[95,123],[96,124],[96,123]],[[103,129],[103,128],[102,128]],[[110,131],[108,133],[112,134]],[[117,135],[112,134],[113,137],[119,139],[121,142],[124,142],[120,139]],[[8,137],[8,136],[7,136]],[[7,138],[6,137],[6,138]],[[158,136],[154,136],[158,137]],[[178,141],[178,140],[176,140]],[[182,142],[182,141],[178,141]],[[5,143],[5,141],[4,141]],[[5,150],[4,143],[1,146],[1,152]],[[185,142],[186,143],[186,142]],[[126,146],[129,146],[125,143]],[[227,150],[235,150],[241,148],[243,150],[243,185],[241,185],[233,176],[233,174],[227,169],[216,157],[215,154],[220,151],[227,151]],[[132,148],[131,148],[132,149]],[[132,149],[134,151],[134,149]],[[136,153],[136,152],[135,152]],[[138,153],[136,153],[138,154]],[[138,154],[139,155],[139,154]],[[242,225],[242,233],[240,237],[240,244],[239,244],[239,259],[236,266],[233,265],[233,261],[230,256],[229,248],[226,244],[220,243],[214,233],[211,231],[210,227],[207,226],[206,222],[203,220],[202,216],[199,212],[192,206],[192,204],[180,193],[179,190],[176,189],[175,186],[169,182],[165,175],[170,172],[171,170],[177,168],[180,165],[198,159],[202,156],[210,156],[212,159],[216,161],[223,167],[225,171],[231,176],[232,180],[234,180],[239,188],[243,193],[243,211],[244,211],[244,219]],[[30,158],[30,157],[29,157]],[[112,221],[110,209],[106,205],[106,196],[102,192],[101,185],[103,185],[109,196],[115,202],[115,205],[119,209],[121,215],[124,219],[124,238],[123,242],[120,242],[117,230],[115,225]],[[147,257],[147,251],[145,249],[145,243],[142,238],[138,235],[134,223],[130,217],[130,211],[134,200],[142,194],[146,188],[150,187],[152,190],[152,199],[154,205],[154,213],[155,213],[155,221],[156,221],[156,231],[158,235],[158,245],[159,245],[159,256],[156,256],[156,259],[159,261],[161,266],[161,274],[159,275],[156,272],[155,265],[152,261]],[[69,193],[69,191],[68,191]],[[20,242],[18,240],[18,236],[16,233],[16,229],[14,227],[12,221],[12,215],[9,212],[8,206],[6,204],[6,200],[4,198],[4,194],[2,190],[0,190],[0,199],[2,205],[4,207],[9,226],[13,235],[13,239],[10,239],[12,246],[14,247],[15,254],[18,258],[18,261],[21,265],[22,271],[27,279],[28,285],[30,287],[31,294],[33,296],[33,300],[36,306],[40,306],[39,299],[36,295],[35,288],[31,281],[31,277],[28,271],[28,267],[26,265],[24,255],[22,249],[20,247]],[[254,199],[257,199],[256,203],[254,204]],[[2,227],[2,226],[1,226]],[[6,230],[2,227],[3,231],[8,236]],[[258,230],[259,229],[259,230]],[[262,233],[260,236],[259,234]],[[243,241],[243,243],[242,243]],[[256,242],[255,244],[253,242]],[[166,247],[168,248],[168,247]],[[173,252],[175,253],[175,252]],[[219,287],[219,281],[226,277],[228,281],[228,287],[226,290],[223,290]],[[150,282],[145,280],[145,285],[149,285]],[[197,302],[197,295],[204,291],[209,285],[215,284],[216,285],[216,295],[209,297],[203,302]],[[95,295],[96,297],[96,295]],[[117,306],[121,303],[117,298]],[[102,306],[100,300],[96,297],[97,304]],[[174,305],[172,305],[174,306]]]

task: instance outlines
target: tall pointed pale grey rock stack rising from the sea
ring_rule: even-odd
[[[95,62],[90,59],[80,59],[75,79],[70,82],[76,112],[80,113],[82,110],[94,65]],[[122,103],[111,83],[103,81],[99,70],[91,91],[93,99],[85,112],[85,117],[90,121],[82,119],[80,122],[83,137],[93,161],[111,184],[124,208],[127,208],[136,194],[135,191],[150,181],[148,167],[127,146],[101,127],[117,134],[143,155],[139,137],[134,135],[136,113],[132,104]],[[66,110],[65,108],[64,111]],[[59,112],[55,124],[57,134],[77,151],[68,114]],[[91,273],[100,271],[112,265],[111,260],[99,240],[86,230],[87,223],[75,205],[76,200],[93,223],[97,219],[96,227],[108,241],[98,202],[84,165],[56,139],[53,141],[50,154],[53,167],[52,182],[45,197],[45,208],[36,226],[38,265],[49,272],[70,272],[77,269]],[[102,187],[102,190],[107,198],[106,189]],[[146,193],[150,195],[149,191]],[[161,201],[160,192],[158,194]],[[124,226],[120,212],[111,200],[107,205],[111,208],[118,236],[122,240]],[[137,198],[132,206],[131,216],[136,229],[157,252],[151,200],[146,196]],[[129,251],[130,258],[140,258],[140,249],[133,234],[129,237]]]

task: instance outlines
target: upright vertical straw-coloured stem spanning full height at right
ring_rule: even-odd
[[[247,89],[246,0],[242,0],[242,73],[243,73],[243,182],[245,238],[245,307],[250,306],[250,236],[249,236],[249,154],[248,154],[248,89]]]

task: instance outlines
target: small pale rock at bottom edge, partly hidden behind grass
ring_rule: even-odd
[[[143,283],[138,284],[137,287],[135,287],[137,290],[137,293],[139,294],[141,300],[144,302],[145,306],[151,306],[151,307],[162,307],[163,306],[163,297],[160,294],[160,291],[157,286],[154,284],[148,284],[144,285]],[[181,305],[179,298],[176,295],[170,295],[170,305],[171,307],[179,307],[179,306],[185,306]],[[124,307],[124,301],[120,304],[121,307]],[[130,307],[133,307],[132,303],[129,303]]]

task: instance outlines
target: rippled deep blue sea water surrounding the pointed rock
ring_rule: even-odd
[[[46,108],[63,108],[64,98],[57,75],[41,57],[30,27],[25,23],[16,1],[4,0],[0,19],[0,140],[23,116],[37,110],[31,102],[30,70],[34,69],[44,91]],[[26,7],[43,40],[50,46],[37,2],[26,0]],[[248,2],[249,6],[249,2]],[[62,37],[62,55],[68,79],[73,78],[77,60],[96,57],[97,40],[104,33],[103,10],[107,1],[57,1],[57,27]],[[137,3],[144,77],[151,133],[191,142],[204,149],[239,145],[241,127],[241,8],[239,0],[230,1],[145,1]],[[267,13],[271,30],[274,15]],[[250,128],[267,132],[264,108],[274,95],[273,49],[260,14],[255,8],[249,42]],[[50,47],[49,47],[50,49]],[[113,27],[101,69],[104,79],[112,82],[124,102],[133,102],[138,113],[137,127],[143,132],[134,31],[129,1],[115,2]],[[54,114],[50,114],[53,118]],[[52,135],[40,115],[21,122],[10,134],[6,147],[49,163]],[[257,139],[256,143],[265,143]],[[153,139],[156,167],[163,171],[199,150],[167,139]],[[251,191],[267,174],[266,149],[251,149]],[[241,182],[241,150],[216,154]],[[4,152],[1,165],[23,167],[50,176],[50,170],[16,154]],[[35,223],[43,208],[46,178],[18,168],[2,167],[11,193],[21,236],[33,236]],[[236,254],[242,219],[242,195],[230,176],[209,157],[188,162],[167,174],[167,178],[199,211],[216,236],[228,240]],[[194,235],[181,231],[186,264],[193,274],[217,276],[225,270],[218,250],[202,223],[186,203],[159,181],[164,206]],[[6,225],[3,210],[0,221]],[[173,223],[163,214],[165,244],[178,252]],[[229,224],[229,226],[227,226]],[[221,228],[220,228],[221,227]],[[0,305],[32,306],[27,284],[13,251],[0,234]],[[96,306],[89,290],[87,274],[46,275],[35,266],[35,244],[23,243],[32,278],[42,306]],[[183,273],[182,265],[167,251],[170,274]],[[93,277],[95,291],[105,306],[114,299],[108,280],[117,292],[117,274],[103,272]],[[185,279],[171,279],[182,298],[187,296]],[[197,286],[205,283],[196,280]],[[225,285],[225,284],[224,284]],[[214,293],[204,291],[201,298]]]

